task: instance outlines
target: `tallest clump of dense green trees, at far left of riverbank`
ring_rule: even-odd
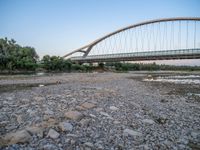
[[[34,48],[22,47],[13,39],[0,39],[1,70],[35,70],[38,58]]]

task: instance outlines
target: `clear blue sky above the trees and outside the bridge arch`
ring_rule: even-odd
[[[0,38],[32,46],[40,57],[63,56],[134,23],[200,17],[199,6],[199,0],[0,0]]]

